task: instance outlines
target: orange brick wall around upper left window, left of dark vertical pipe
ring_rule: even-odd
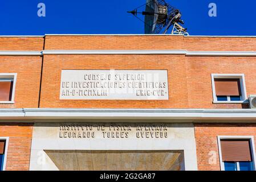
[[[0,73],[17,73],[14,104],[0,108],[38,107],[42,57],[0,56]]]

